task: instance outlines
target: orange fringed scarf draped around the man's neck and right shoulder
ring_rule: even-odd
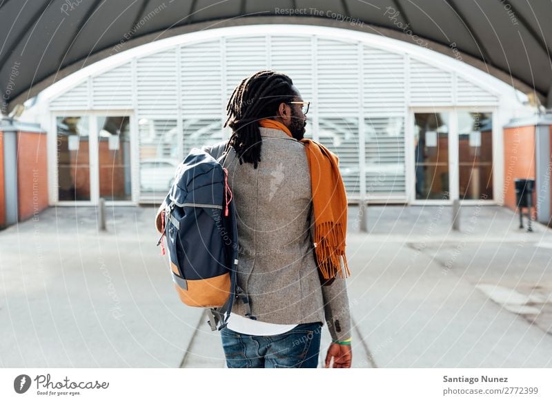
[[[262,119],[259,125],[282,130],[293,137],[290,130],[279,121]],[[311,139],[302,139],[301,142],[305,145],[311,170],[318,268],[324,279],[335,278],[337,272],[340,277],[346,278],[351,275],[345,257],[347,196],[337,164],[339,159],[321,143]]]

